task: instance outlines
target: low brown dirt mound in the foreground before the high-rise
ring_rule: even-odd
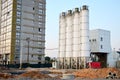
[[[35,79],[51,78],[47,74],[42,74],[38,71],[28,71],[26,73],[16,76],[16,78],[21,78],[21,77],[29,77],[29,78],[35,78]]]

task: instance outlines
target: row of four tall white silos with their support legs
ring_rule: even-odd
[[[88,6],[62,12],[59,18],[59,67],[86,67],[89,56]]]

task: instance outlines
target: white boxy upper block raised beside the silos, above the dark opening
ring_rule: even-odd
[[[90,30],[91,52],[111,52],[110,31],[103,29]]]

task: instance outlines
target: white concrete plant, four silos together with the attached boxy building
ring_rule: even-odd
[[[86,5],[62,12],[59,19],[59,68],[86,68],[91,61],[99,62],[99,67],[114,65],[110,31],[89,30]]]

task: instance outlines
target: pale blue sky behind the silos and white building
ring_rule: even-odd
[[[120,0],[46,0],[46,56],[57,57],[59,15],[69,9],[89,6],[89,28],[111,32],[111,47],[120,48]]]

